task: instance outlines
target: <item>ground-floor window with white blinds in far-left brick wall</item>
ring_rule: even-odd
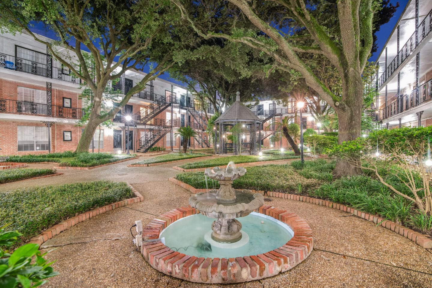
[[[18,151],[48,150],[48,127],[18,126]]]

